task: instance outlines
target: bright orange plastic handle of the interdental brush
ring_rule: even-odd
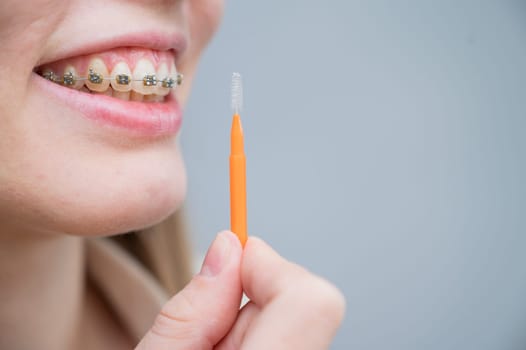
[[[242,246],[247,241],[246,158],[243,128],[238,114],[232,120],[230,133],[230,229]]]

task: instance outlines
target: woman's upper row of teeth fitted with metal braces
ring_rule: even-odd
[[[117,63],[111,73],[108,73],[106,65],[99,58],[92,59],[88,67],[85,76],[77,75],[76,69],[70,65],[64,69],[62,76],[50,69],[44,70],[42,76],[75,89],[81,89],[85,84],[91,91],[104,92],[111,85],[115,91],[133,90],[142,95],[160,96],[167,95],[170,89],[183,82],[183,76],[177,73],[175,65],[172,64],[169,71],[167,65],[162,63],[156,72],[153,64],[146,59],[137,62],[133,73],[125,62]]]

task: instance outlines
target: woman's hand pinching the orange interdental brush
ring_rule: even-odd
[[[242,291],[250,302],[239,309]],[[136,350],[321,350],[344,313],[342,294],[257,238],[222,232],[201,272],[162,309]]]

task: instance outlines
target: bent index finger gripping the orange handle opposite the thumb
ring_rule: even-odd
[[[341,292],[330,283],[286,261],[256,238],[249,238],[245,246],[241,282],[261,310],[243,334],[243,349],[329,347],[345,308]]]

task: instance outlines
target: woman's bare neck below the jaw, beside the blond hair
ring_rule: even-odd
[[[70,349],[83,270],[82,238],[0,231],[0,349]]]

